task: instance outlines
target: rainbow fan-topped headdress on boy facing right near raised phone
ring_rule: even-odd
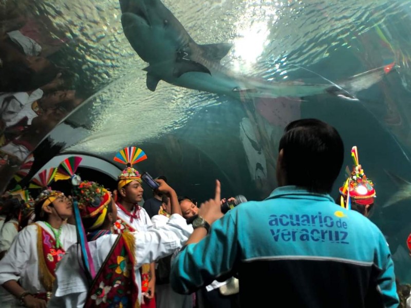
[[[135,146],[126,147],[116,154],[114,161],[127,165],[118,176],[118,189],[133,181],[141,182],[141,176],[139,172],[133,168],[133,165],[146,159],[147,155],[145,155],[145,152]]]

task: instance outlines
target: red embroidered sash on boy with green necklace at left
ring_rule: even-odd
[[[37,226],[37,253],[39,255],[40,282],[47,292],[52,291],[57,263],[63,258],[63,248],[55,247],[55,239],[40,225]]]

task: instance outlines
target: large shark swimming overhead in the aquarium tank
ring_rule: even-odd
[[[163,80],[172,85],[240,98],[308,97],[331,93],[357,100],[355,93],[379,82],[395,65],[352,76],[338,85],[269,82],[240,76],[220,64],[231,44],[197,44],[160,0],[120,0],[121,23],[128,42],[149,65],[146,85],[155,91]]]

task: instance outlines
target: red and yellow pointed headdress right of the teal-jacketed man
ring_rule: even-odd
[[[376,197],[374,184],[365,176],[364,170],[359,164],[357,146],[352,147],[351,157],[354,161],[351,175],[347,178],[344,185],[340,187],[341,206],[347,209],[351,208],[351,198],[358,204],[368,205],[372,204]],[[346,199],[345,204],[344,198]]]

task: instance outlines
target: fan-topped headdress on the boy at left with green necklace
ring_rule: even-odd
[[[42,209],[52,203],[55,199],[64,196],[63,192],[51,190],[48,185],[54,180],[57,173],[57,168],[44,169],[39,172],[29,184],[29,188],[41,188],[40,195],[35,199],[35,205],[42,203]]]

